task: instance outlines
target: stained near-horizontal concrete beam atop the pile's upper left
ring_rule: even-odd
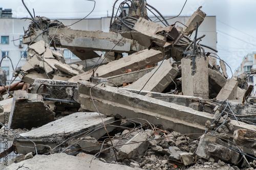
[[[72,30],[69,28],[58,28],[57,31],[56,28],[50,28],[48,33],[43,33],[42,30],[34,31],[31,36],[23,39],[23,43],[29,44],[36,38],[34,42],[44,40],[49,44],[52,37],[54,38],[51,46],[54,44],[57,47],[68,48],[81,60],[99,57],[93,51],[109,52],[115,45],[112,50],[113,52],[124,53],[130,52],[131,49],[131,41],[125,40],[119,34],[101,31]]]

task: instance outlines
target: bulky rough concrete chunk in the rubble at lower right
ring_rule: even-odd
[[[221,144],[233,147],[236,149],[236,145],[228,144],[216,136],[202,135],[199,141],[199,145],[196,154],[204,159],[209,160],[211,157],[215,158],[216,161],[221,159],[229,163],[237,164],[241,159],[241,155],[235,151],[232,151]]]

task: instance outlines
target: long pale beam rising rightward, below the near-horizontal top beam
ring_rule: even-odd
[[[106,65],[101,65],[95,71],[94,76],[98,74],[98,77],[111,77],[120,74],[124,74],[126,70],[137,69],[152,65],[163,60],[163,55],[160,51],[156,50],[143,50],[130,56],[123,57],[119,60],[112,61]],[[93,70],[84,72],[78,76],[72,77],[69,82],[78,82],[79,80],[89,80],[93,74]]]

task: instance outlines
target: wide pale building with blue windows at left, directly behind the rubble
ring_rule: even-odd
[[[22,66],[26,62],[27,58],[27,45],[22,43],[22,38],[24,35],[24,30],[27,30],[31,20],[29,19],[20,19],[20,18],[12,18],[11,10],[6,11],[5,14],[3,10],[0,8],[0,36],[1,36],[1,44],[0,44],[0,59],[3,59],[1,63],[1,67],[6,70],[7,73],[7,84],[13,80],[13,68]],[[9,14],[9,15],[7,15]],[[166,17],[168,19],[169,17]],[[51,18],[53,19],[53,18]],[[156,18],[151,18],[155,20]],[[169,20],[169,23],[175,23],[179,21],[183,24],[189,17],[177,17],[173,20]],[[58,19],[64,25],[69,26],[72,23],[78,21],[79,19]],[[110,17],[102,17],[102,18],[91,18],[91,19],[83,19],[70,28],[75,30],[88,30],[88,31],[103,31],[109,32],[110,26]],[[160,23],[160,22],[158,22]],[[179,26],[180,23],[177,22],[176,26]],[[182,25],[180,25],[182,26]],[[182,26],[183,27],[183,26]],[[202,39],[201,43],[208,45],[213,48],[217,48],[217,34],[216,34],[216,17],[215,16],[207,16],[205,17],[204,22],[201,24],[198,30],[198,37],[205,34],[206,36]],[[192,35],[193,36],[193,35]],[[206,51],[207,52],[207,51]],[[23,55],[24,54],[24,55]],[[79,61],[74,54],[72,54],[69,50],[64,51],[64,57],[67,63],[72,63]],[[12,61],[12,62],[11,62]],[[12,68],[13,65],[13,68]],[[19,78],[16,78],[14,82],[19,81]]]

